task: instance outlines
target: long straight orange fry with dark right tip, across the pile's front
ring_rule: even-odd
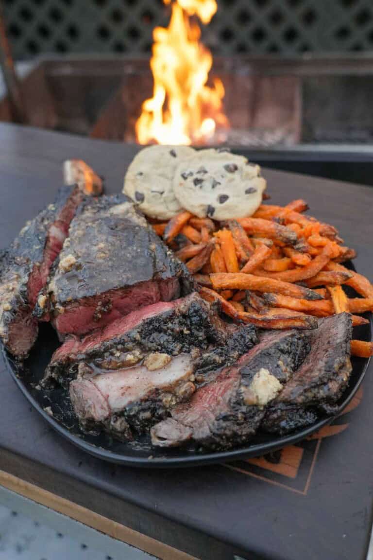
[[[253,274],[218,273],[210,275],[214,290],[254,290],[258,292],[282,293],[285,296],[298,297],[304,300],[322,300],[318,293],[273,278],[254,276]]]

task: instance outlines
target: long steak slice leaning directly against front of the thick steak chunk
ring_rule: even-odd
[[[81,361],[118,369],[139,362],[148,352],[175,356],[192,348],[207,349],[209,344],[218,344],[220,361],[226,363],[228,355],[232,357],[235,352],[237,358],[257,342],[254,326],[224,323],[215,306],[193,292],[185,298],[133,311],[82,339],[67,337],[53,354],[46,379],[72,379]]]

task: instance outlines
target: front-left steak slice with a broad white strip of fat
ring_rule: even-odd
[[[150,353],[141,365],[98,374],[81,362],[78,378],[70,383],[82,427],[103,429],[122,440],[165,418],[170,407],[194,391],[191,354]]]

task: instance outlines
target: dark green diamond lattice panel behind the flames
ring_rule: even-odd
[[[15,58],[56,53],[144,53],[162,0],[3,0]],[[203,37],[215,53],[373,49],[373,0],[218,0]]]

